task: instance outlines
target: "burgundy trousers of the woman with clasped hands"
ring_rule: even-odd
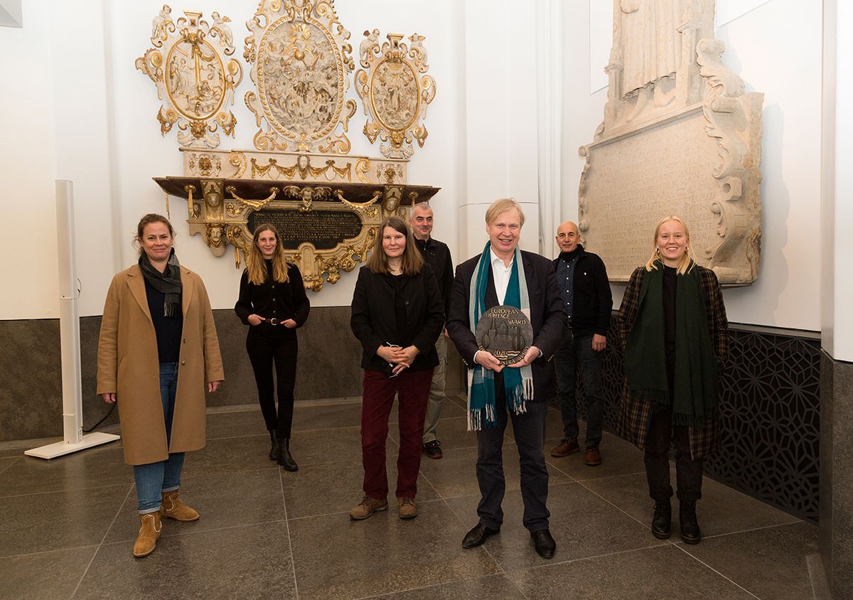
[[[382,371],[364,370],[362,395],[362,463],[364,493],[370,498],[388,496],[385,442],[388,417],[397,394],[400,449],[397,454],[397,498],[415,498],[421,469],[421,438],[427,411],[432,369],[403,370],[396,377]]]

